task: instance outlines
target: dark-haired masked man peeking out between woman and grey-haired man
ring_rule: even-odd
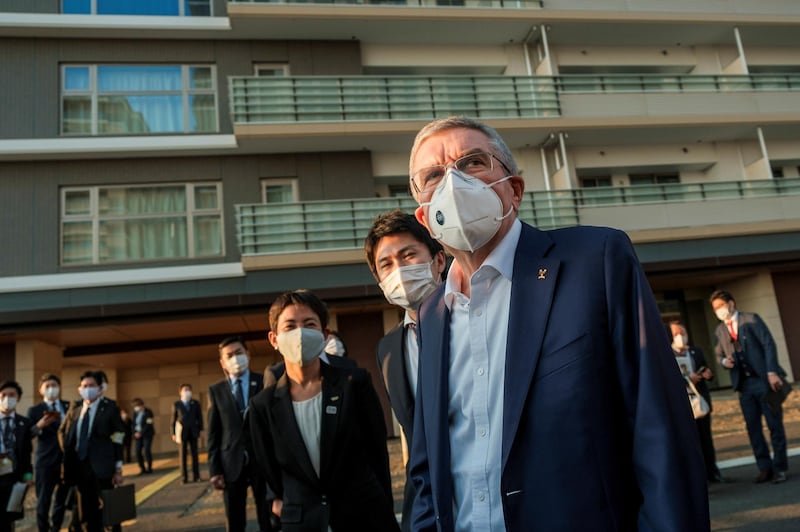
[[[378,370],[403,429],[405,451],[414,430],[419,367],[417,309],[442,282],[444,250],[413,215],[395,209],[375,218],[364,240],[364,252],[386,299],[406,311],[403,321],[378,342],[377,350]],[[411,530],[413,499],[414,487],[406,468],[401,521],[404,531]]]

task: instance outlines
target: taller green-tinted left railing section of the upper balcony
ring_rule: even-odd
[[[229,83],[236,124],[560,114],[549,77],[251,76]]]

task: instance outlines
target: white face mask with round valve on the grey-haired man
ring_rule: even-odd
[[[461,251],[475,251],[492,239],[503,219],[503,202],[492,187],[511,179],[506,176],[494,183],[484,183],[450,168],[433,192],[428,205],[428,225],[433,238]]]

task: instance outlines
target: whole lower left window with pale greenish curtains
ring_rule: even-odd
[[[69,187],[61,191],[61,263],[221,257],[218,183]]]

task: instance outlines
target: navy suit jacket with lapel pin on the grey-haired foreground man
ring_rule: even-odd
[[[450,316],[422,306],[413,529],[454,529]],[[509,532],[708,531],[705,466],[658,308],[621,231],[542,232],[514,258],[503,389]],[[498,334],[504,334],[498,331]]]

